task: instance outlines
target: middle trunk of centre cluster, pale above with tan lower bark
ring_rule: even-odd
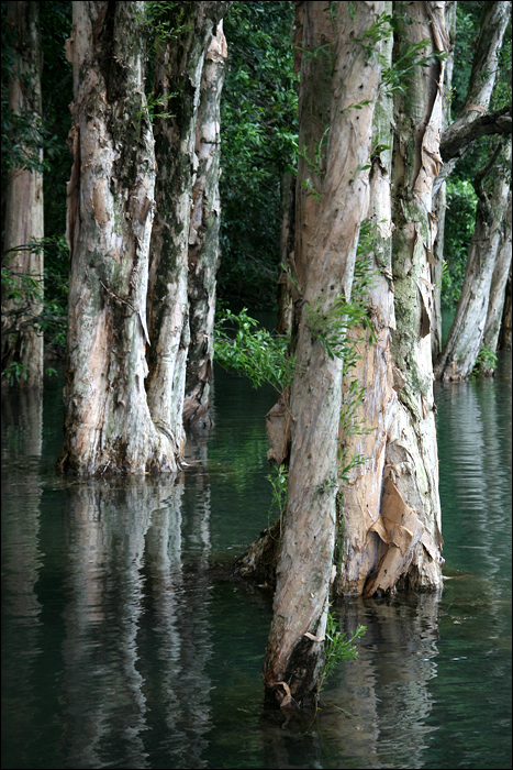
[[[391,13],[391,2],[386,2]],[[381,55],[388,67],[392,63],[393,40],[383,42]],[[376,106],[372,127],[372,169],[370,173],[369,219],[375,226],[369,268],[373,275],[367,302],[376,340],[358,343],[360,359],[348,373],[365,388],[364,400],[356,410],[349,430],[341,424],[339,444],[346,464],[352,457],[361,455],[365,462],[353,469],[347,483],[341,481],[338,491],[339,530],[337,542],[337,574],[334,590],[345,595],[360,596],[368,575],[377,565],[379,537],[372,526],[380,520],[384,449],[397,394],[393,391],[391,333],[395,328],[392,283],[392,166],[393,100],[382,91]],[[354,339],[368,334],[356,328]],[[345,383],[345,400],[348,382]],[[343,404],[343,410],[347,404]],[[361,431],[365,433],[354,432]],[[368,431],[368,432],[367,432]]]

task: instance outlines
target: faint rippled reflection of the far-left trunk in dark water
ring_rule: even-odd
[[[40,550],[43,403],[37,391],[2,397],[2,710],[9,715],[5,767],[32,767],[38,724],[44,708],[34,683],[41,666],[42,605],[36,583],[43,565]],[[29,472],[27,472],[29,469]],[[4,508],[5,506],[5,508]],[[5,623],[3,623],[3,618]]]

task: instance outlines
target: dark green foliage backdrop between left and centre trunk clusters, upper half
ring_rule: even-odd
[[[295,165],[292,19],[292,3],[267,0],[234,2],[224,20],[219,290],[253,306],[275,299],[279,175]]]

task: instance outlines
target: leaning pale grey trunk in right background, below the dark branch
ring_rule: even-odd
[[[510,183],[506,177],[510,164],[511,140],[502,151],[502,160],[498,162],[495,152],[476,179],[479,197],[476,228],[456,316],[435,367],[438,380],[466,380],[472,372],[481,348],[491,282],[501,242],[502,220],[508,205]],[[489,183],[492,189],[491,193],[487,193],[483,180],[492,168],[494,179]]]

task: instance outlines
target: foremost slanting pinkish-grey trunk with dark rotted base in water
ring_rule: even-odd
[[[304,9],[306,35],[309,16],[323,19],[328,14],[321,2],[306,2]],[[359,227],[369,204],[368,161],[380,80],[380,65],[354,38],[375,23],[383,2],[358,3],[356,9],[341,2],[331,4],[330,10],[336,50],[326,125],[327,163],[319,217],[306,251],[290,398],[288,505],[264,663],[267,697],[281,705],[290,697],[308,705],[319,686],[336,531],[342,360],[328,354],[314,319],[325,326],[341,296],[346,301],[350,297]],[[312,86],[305,81],[306,94],[311,95]],[[305,232],[303,221],[298,226]]]

